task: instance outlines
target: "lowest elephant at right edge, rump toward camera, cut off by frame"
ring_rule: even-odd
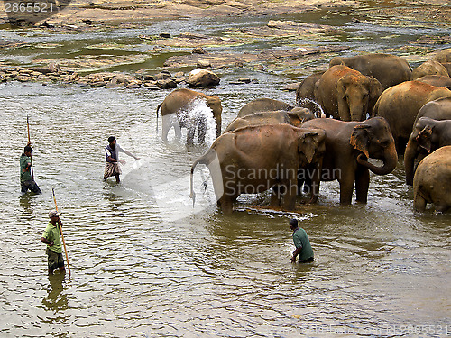
[[[433,203],[438,212],[451,206],[451,146],[434,151],[421,162],[413,178],[413,207],[425,211]]]

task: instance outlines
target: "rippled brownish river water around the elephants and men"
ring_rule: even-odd
[[[312,16],[317,15],[317,16]],[[343,32],[321,42],[355,50],[400,49],[424,34],[449,35],[446,24],[422,29],[352,20],[349,13],[318,12]],[[287,18],[284,18],[287,19]],[[318,20],[319,20],[318,19]],[[255,19],[253,24],[266,23]],[[187,27],[189,23],[189,27]],[[243,19],[161,22],[152,30],[213,32]],[[171,28],[169,28],[171,27]],[[432,27],[432,28],[431,28]],[[216,30],[216,31],[215,31]],[[100,33],[57,34],[1,31],[4,38],[31,43],[3,50],[12,63],[45,52],[39,41],[88,53]],[[134,46],[138,31],[103,32],[103,39]],[[152,31],[153,32],[153,31]],[[202,31],[201,31],[202,32]],[[212,32],[212,31],[208,31]],[[134,42],[133,42],[134,41]],[[262,41],[266,48],[283,41]],[[296,43],[296,41],[290,41]],[[300,42],[299,42],[300,43]],[[268,46],[269,45],[269,46]],[[252,50],[257,45],[244,46]],[[440,48],[445,46],[440,45]],[[449,48],[450,46],[447,46]],[[330,55],[324,58],[330,58]],[[294,103],[287,82],[308,75],[325,59],[297,69],[220,69],[221,84],[206,90],[223,101],[223,130],[253,98]],[[161,60],[149,59],[158,65]],[[129,69],[133,69],[129,65]],[[258,79],[231,86],[243,76]],[[290,81],[287,81],[289,79]],[[2,337],[298,337],[430,336],[451,333],[450,215],[412,210],[412,189],[403,183],[400,161],[393,173],[372,176],[367,205],[338,204],[336,182],[321,186],[318,205],[296,213],[265,210],[268,196],[242,196],[235,213],[216,209],[211,180],[202,193],[205,169],[196,171],[196,205],[189,200],[189,168],[206,146],[161,142],[156,106],[170,91],[87,88],[8,82],[0,85],[0,336]],[[19,157],[30,117],[34,174],[42,195],[20,195]],[[141,160],[122,156],[122,182],[102,180],[106,139]],[[211,137],[207,143],[211,143]],[[201,176],[203,175],[203,178]],[[64,223],[71,277],[46,274],[41,233],[54,208]],[[257,207],[259,206],[259,207]],[[315,262],[290,263],[288,222],[301,220]]]

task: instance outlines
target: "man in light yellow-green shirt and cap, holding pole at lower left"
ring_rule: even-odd
[[[49,224],[47,224],[47,227],[41,237],[41,242],[47,244],[47,249],[45,252],[47,253],[49,275],[53,274],[53,271],[58,268],[60,268],[60,272],[65,272],[60,241],[60,226],[62,226],[60,215],[61,214],[56,210],[49,213],[49,218],[51,220]]]

